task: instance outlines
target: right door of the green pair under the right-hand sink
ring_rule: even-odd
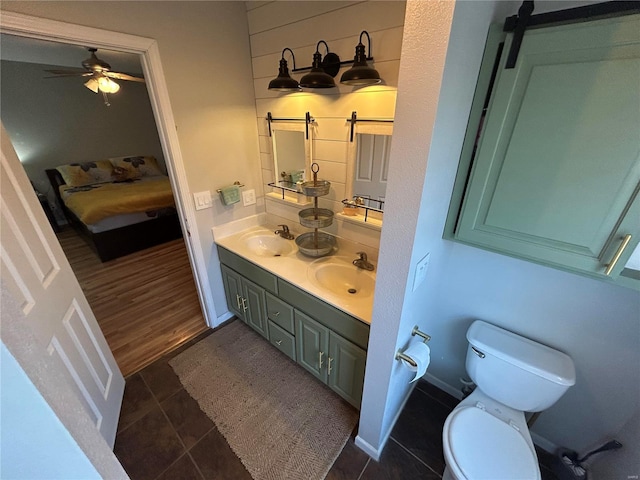
[[[327,384],[356,408],[360,408],[362,401],[366,360],[367,353],[363,349],[329,332]]]

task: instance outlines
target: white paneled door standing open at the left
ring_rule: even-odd
[[[0,263],[39,341],[56,355],[78,398],[113,447],[124,378],[1,126]]]

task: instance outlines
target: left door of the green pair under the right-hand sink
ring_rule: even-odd
[[[326,383],[329,329],[297,310],[295,319],[298,363]]]

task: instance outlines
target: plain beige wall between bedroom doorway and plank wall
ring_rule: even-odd
[[[223,207],[215,193],[235,180],[262,184],[244,3],[16,1],[0,8],[158,42],[189,190],[214,199],[212,209],[195,212],[190,230],[202,245],[215,322],[227,307],[211,227],[264,210]]]

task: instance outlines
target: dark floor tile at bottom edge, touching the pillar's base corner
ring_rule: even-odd
[[[371,460],[364,469],[360,480],[398,480],[404,478],[440,479],[440,475],[431,471],[393,439],[389,439],[380,461]]]

